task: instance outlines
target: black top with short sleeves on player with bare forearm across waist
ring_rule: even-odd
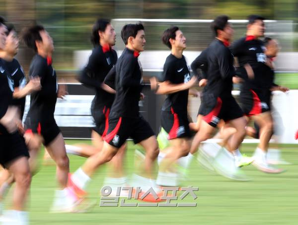
[[[190,72],[184,56],[177,58],[170,54],[163,65],[161,82],[169,81],[172,84],[187,83],[190,80]],[[185,112],[187,113],[188,89],[168,94],[165,99],[162,111]]]

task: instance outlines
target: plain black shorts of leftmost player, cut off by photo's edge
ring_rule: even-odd
[[[3,168],[9,167],[13,160],[23,156],[29,158],[29,152],[25,139],[18,131],[0,135],[0,164]]]

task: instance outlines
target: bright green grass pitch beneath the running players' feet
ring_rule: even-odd
[[[77,141],[67,141],[68,144]],[[126,157],[128,175],[134,170],[131,143]],[[242,151],[251,155],[255,145],[246,144]],[[201,224],[201,225],[297,225],[298,224],[298,146],[282,146],[283,158],[292,165],[281,174],[266,174],[253,166],[244,168],[253,178],[249,182],[228,180],[204,170],[197,161],[190,168],[189,180],[183,186],[198,186],[198,198],[186,197],[180,202],[197,202],[197,207],[99,207],[83,214],[51,214],[55,166],[42,166],[33,177],[30,197],[32,225],[97,225],[97,224]],[[70,156],[71,171],[85,159]],[[102,167],[89,185],[90,197],[100,199],[100,188],[106,168]],[[180,194],[179,194],[180,195]],[[175,202],[175,201],[174,201]]]

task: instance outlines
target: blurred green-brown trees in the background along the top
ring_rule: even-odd
[[[297,12],[298,0],[0,0],[0,15],[13,23],[18,32],[34,22],[46,27],[55,42],[54,57],[58,69],[73,68],[75,50],[92,48],[89,42],[90,30],[98,17],[213,19],[219,14],[227,14],[232,19],[245,19],[249,14],[260,14],[267,19],[293,20],[293,46],[287,51],[298,51]],[[209,26],[206,28],[205,33],[209,37]],[[146,29],[150,38],[150,35],[160,35],[163,27],[151,24]],[[196,32],[195,27],[185,29],[189,33]],[[120,39],[118,42],[121,42]],[[206,48],[206,44],[202,45],[194,42],[188,50]],[[161,45],[159,37],[147,48],[160,49],[166,48]],[[31,56],[28,51],[22,50],[23,46],[19,57],[24,58],[24,63],[28,64]]]

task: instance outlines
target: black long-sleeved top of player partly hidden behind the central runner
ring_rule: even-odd
[[[95,88],[96,94],[92,101],[94,108],[108,107],[113,104],[115,95],[106,92],[101,88],[108,72],[113,68],[117,61],[117,53],[110,48],[97,46],[93,49],[87,66],[79,76],[79,82],[89,87]]]

